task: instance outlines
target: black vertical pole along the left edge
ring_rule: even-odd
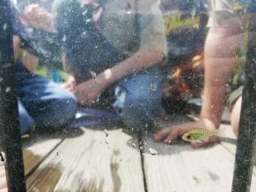
[[[0,1],[0,148],[9,192],[25,192],[9,0]]]

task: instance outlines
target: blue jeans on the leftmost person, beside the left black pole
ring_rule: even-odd
[[[66,125],[77,111],[76,98],[49,79],[32,74],[17,61],[16,84],[20,133],[38,127]]]

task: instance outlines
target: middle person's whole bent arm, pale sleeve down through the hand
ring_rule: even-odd
[[[152,12],[145,14],[142,11],[143,18],[141,18],[140,26],[143,31],[141,32],[140,48],[125,61],[96,75],[95,79],[79,84],[75,88],[74,94],[82,105],[90,105],[110,84],[132,73],[138,73],[143,69],[158,65],[166,57],[165,26],[160,9],[155,3],[150,9],[144,11]]]

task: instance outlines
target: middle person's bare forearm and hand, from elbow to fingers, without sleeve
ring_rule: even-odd
[[[77,96],[80,104],[90,105],[96,101],[96,97],[100,96],[102,91],[107,89],[110,84],[132,73],[153,67],[163,59],[163,53],[154,50],[139,49],[136,54],[127,60],[96,75],[95,79],[90,79],[79,84],[75,88],[74,94]]]

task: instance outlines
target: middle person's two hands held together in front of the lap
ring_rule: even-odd
[[[96,79],[90,79],[77,85],[73,76],[70,76],[67,82],[62,84],[62,87],[73,92],[78,102],[84,106],[90,106],[96,102],[98,96],[106,89],[106,85],[97,83]]]

